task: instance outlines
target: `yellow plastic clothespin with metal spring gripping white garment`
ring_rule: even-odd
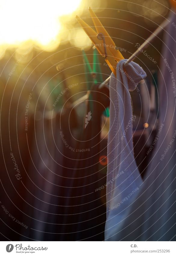
[[[85,33],[91,39],[98,52],[100,52],[101,55],[105,56],[105,61],[110,67],[111,71],[116,76],[117,62],[119,62],[121,59],[124,59],[124,57],[120,53],[120,51],[117,50],[114,41],[107,33],[106,29],[103,27],[100,20],[90,7],[89,12],[91,14],[97,33],[91,27],[89,27],[88,24],[85,23],[85,21],[83,21],[78,15],[76,15],[76,19],[84,29]]]

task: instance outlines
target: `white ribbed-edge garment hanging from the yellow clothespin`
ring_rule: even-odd
[[[116,225],[125,215],[131,193],[139,190],[142,179],[134,160],[131,96],[146,73],[134,62],[121,60],[116,67],[117,78],[110,78],[110,130],[108,135],[107,221],[105,239],[111,240]],[[113,239],[112,239],[113,240]]]

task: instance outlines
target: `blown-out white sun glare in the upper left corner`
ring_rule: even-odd
[[[0,3],[0,44],[34,40],[48,45],[60,30],[59,17],[71,14],[81,0],[4,0]]]

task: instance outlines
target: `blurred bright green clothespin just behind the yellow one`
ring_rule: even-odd
[[[92,84],[97,84],[97,83],[101,84],[103,82],[100,62],[98,59],[98,52],[96,48],[93,50],[93,70],[91,68],[91,65],[88,61],[88,58],[84,50],[82,50],[82,55],[85,62],[85,76],[87,81],[87,90],[91,90]],[[91,93],[89,94],[89,100],[90,100],[90,109],[91,109],[91,112],[93,112],[93,102],[91,101],[92,100]],[[107,107],[103,111],[103,115],[105,115],[106,117],[110,116],[109,107]]]

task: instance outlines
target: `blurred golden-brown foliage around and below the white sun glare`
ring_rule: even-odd
[[[38,104],[38,106],[35,104],[34,106],[40,109],[41,104],[44,104],[46,109],[53,109],[53,101],[55,101],[57,91],[62,89],[61,87],[66,88],[70,84],[78,83],[78,86],[70,91],[72,95],[74,94],[73,100],[81,96],[79,92],[83,92],[82,95],[85,94],[86,81],[81,49],[85,49],[90,63],[93,58],[93,50],[88,45],[90,40],[80,28],[75,14],[78,14],[93,27],[88,12],[89,5],[96,12],[116,46],[124,49],[122,54],[125,58],[129,58],[137,49],[135,45],[142,44],[168,16],[170,8],[167,0],[159,2],[154,0],[82,1],[77,11],[59,18],[61,29],[58,44],[53,43],[53,45],[40,47],[37,43],[29,40],[18,46],[1,47],[0,83],[1,91],[6,88],[5,98],[11,99],[13,95],[14,102],[19,101],[19,104],[24,106],[28,93],[34,88]],[[139,59],[135,60],[147,73],[159,65],[161,46],[162,34],[147,49],[147,54],[152,56],[157,64],[143,54],[140,54]],[[100,56],[99,59],[103,79],[106,79],[111,73],[110,69],[105,65],[103,57]],[[13,68],[14,71],[9,76]],[[55,87],[56,90],[51,93]],[[79,94],[75,95],[76,93]]]

